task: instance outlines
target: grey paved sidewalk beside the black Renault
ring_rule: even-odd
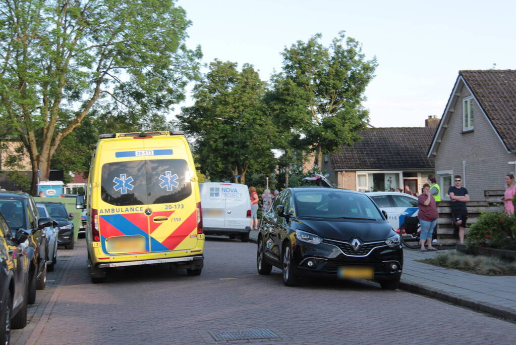
[[[251,231],[249,238],[255,242],[257,236]],[[516,321],[516,276],[483,276],[416,261],[440,252],[404,248],[399,288]]]

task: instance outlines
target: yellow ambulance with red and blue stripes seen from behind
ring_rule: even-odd
[[[93,283],[104,281],[109,268],[132,265],[168,263],[201,274],[200,201],[183,132],[100,135],[86,194]]]

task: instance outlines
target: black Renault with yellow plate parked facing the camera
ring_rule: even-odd
[[[360,192],[297,187],[282,191],[264,214],[257,243],[257,269],[283,270],[286,286],[299,277],[377,280],[396,289],[403,252],[376,204]]]

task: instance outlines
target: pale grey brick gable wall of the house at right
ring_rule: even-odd
[[[454,112],[448,113],[447,128],[442,128],[442,143],[435,156],[436,171],[453,170],[454,175],[461,175],[470,200],[482,201],[485,190],[505,188],[505,175],[515,168],[507,162],[516,160],[516,155],[507,152],[476,101],[473,102],[474,130],[462,133],[462,99],[471,93],[463,84],[457,91],[460,96]]]

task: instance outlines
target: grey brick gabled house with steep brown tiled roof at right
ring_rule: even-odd
[[[427,156],[435,162],[443,200],[462,176],[472,201],[505,189],[516,165],[516,70],[459,71]]]

